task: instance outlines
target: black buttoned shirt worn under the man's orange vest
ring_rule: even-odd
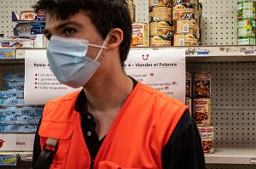
[[[137,82],[133,80],[134,87]],[[89,149],[91,157],[91,167],[93,168],[96,154],[100,149],[104,138],[98,139],[96,134],[96,122],[93,115],[90,114],[86,108],[84,109],[84,103],[86,103],[86,97],[84,91],[79,93],[79,96],[75,103],[75,110],[82,115],[82,131],[84,134],[85,143]],[[38,128],[40,127],[40,123]],[[32,165],[38,160],[38,156],[41,153],[40,141],[38,130],[36,132],[33,160]],[[172,136],[168,143],[162,150],[162,166],[163,169],[205,169],[205,158],[201,146],[201,138],[198,129],[195,125],[195,121],[189,115],[189,110],[185,110],[181,119],[177,123],[172,132]]]

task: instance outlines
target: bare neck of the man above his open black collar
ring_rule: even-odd
[[[105,85],[102,85],[105,84]],[[95,117],[96,132],[99,138],[103,138],[107,133],[116,115],[119,113],[125,100],[130,95],[133,82],[130,77],[114,76],[94,85],[93,88],[85,89],[87,107],[89,112]]]

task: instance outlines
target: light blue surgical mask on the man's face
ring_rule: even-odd
[[[102,46],[90,44],[87,40],[50,37],[47,47],[47,58],[49,60],[49,69],[55,74],[59,82],[69,87],[83,87],[90,77],[96,72],[100,63],[96,60],[102,54],[102,49],[107,42],[106,37]],[[88,46],[101,48],[96,59],[90,59],[86,56]]]

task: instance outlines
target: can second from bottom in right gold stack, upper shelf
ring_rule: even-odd
[[[199,27],[195,20],[174,20],[174,33],[191,33],[195,34],[198,37],[199,34]]]

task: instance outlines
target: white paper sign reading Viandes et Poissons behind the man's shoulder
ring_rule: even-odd
[[[185,101],[185,49],[132,49],[125,61],[127,75]]]

